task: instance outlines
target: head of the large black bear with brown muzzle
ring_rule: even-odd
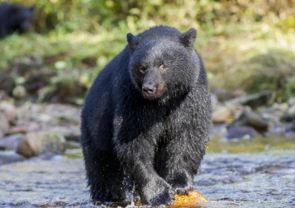
[[[194,28],[148,39],[127,34],[129,74],[144,98],[164,101],[189,91],[199,76],[196,35]]]

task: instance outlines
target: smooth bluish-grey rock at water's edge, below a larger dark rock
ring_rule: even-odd
[[[240,139],[253,139],[257,136],[257,132],[252,127],[230,127],[228,133],[225,136],[225,140],[228,141],[238,141]]]

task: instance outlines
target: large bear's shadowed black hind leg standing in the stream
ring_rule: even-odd
[[[91,139],[86,128],[82,130],[81,143],[90,196],[95,201],[123,200],[128,190],[128,178],[113,145],[105,140],[95,144],[97,141],[100,140]]]

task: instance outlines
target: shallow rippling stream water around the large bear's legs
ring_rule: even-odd
[[[213,139],[195,177],[208,208],[295,207],[295,139]],[[0,166],[0,207],[116,207],[89,199],[80,149]]]

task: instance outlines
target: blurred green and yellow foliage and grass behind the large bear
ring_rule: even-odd
[[[33,31],[0,40],[0,71],[11,76],[12,94],[24,86],[40,101],[82,104],[93,78],[126,45],[127,32],[169,25],[197,28],[213,91],[268,89],[277,101],[295,96],[294,0],[9,2],[35,5]]]

